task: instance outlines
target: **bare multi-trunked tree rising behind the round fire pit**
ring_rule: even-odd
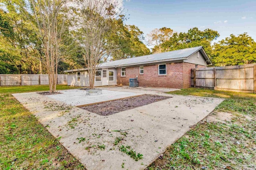
[[[106,37],[112,29],[112,20],[120,16],[118,1],[80,0],[76,35],[81,45],[84,61],[89,73],[90,88],[100,61],[107,55]]]

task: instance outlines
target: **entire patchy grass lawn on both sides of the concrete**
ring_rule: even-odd
[[[57,90],[74,87],[58,85]],[[48,86],[0,87],[0,169],[85,169],[11,93]],[[232,113],[226,123],[202,121],[147,169],[254,169],[256,95],[188,88],[170,94],[226,98],[216,109]]]

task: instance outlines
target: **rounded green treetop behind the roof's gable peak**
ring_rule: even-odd
[[[162,49],[161,52],[203,46],[206,53],[211,55],[211,42],[214,39],[217,39],[219,36],[220,34],[218,31],[214,31],[212,29],[205,29],[204,31],[200,31],[197,27],[194,27],[189,29],[188,32],[174,33],[169,40],[164,41],[159,46]],[[153,51],[155,48],[159,47],[154,47]]]

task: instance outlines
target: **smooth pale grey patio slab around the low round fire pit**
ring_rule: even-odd
[[[62,90],[61,93],[62,94],[47,95],[47,97],[70,104],[71,106],[80,106],[138,95],[138,93],[133,92],[102,90],[102,94],[99,96],[88,96],[86,95],[86,90],[79,89]]]

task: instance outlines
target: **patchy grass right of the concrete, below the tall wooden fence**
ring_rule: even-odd
[[[226,98],[214,112],[232,113],[230,122],[201,121],[164,152],[148,170],[256,168],[256,95],[188,88],[170,94]]]

